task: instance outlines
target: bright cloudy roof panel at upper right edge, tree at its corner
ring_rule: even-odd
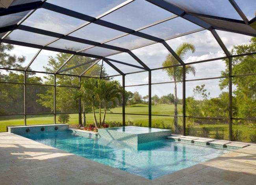
[[[231,49],[234,46],[241,45],[241,44],[250,44],[250,40],[251,38],[253,38],[248,35],[242,35],[239,33],[232,33],[228,31],[216,30],[216,32],[218,33],[222,42],[224,43],[226,48],[228,48],[229,51],[231,51]]]

